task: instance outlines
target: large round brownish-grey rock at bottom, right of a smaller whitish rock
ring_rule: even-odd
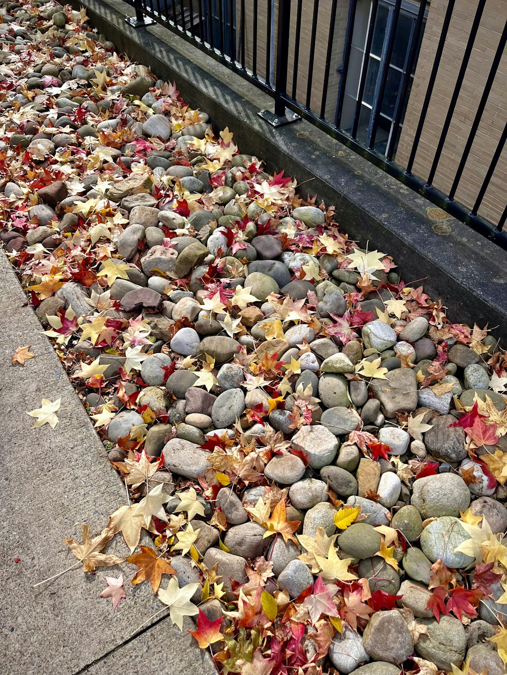
[[[375,661],[402,664],[414,651],[412,634],[397,610],[377,612],[364,629],[363,644]]]

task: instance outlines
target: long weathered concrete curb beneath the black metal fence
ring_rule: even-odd
[[[507,252],[448,217],[348,148],[306,121],[271,128],[258,117],[272,99],[239,75],[160,25],[134,29],[134,13],[122,0],[72,0],[84,5],[93,26],[116,47],[155,74],[176,80],[183,98],[228,126],[243,153],[265,159],[270,171],[297,176],[306,196],[335,205],[350,237],[379,247],[400,264],[407,284],[422,280],[441,298],[451,321],[489,322],[507,335]]]

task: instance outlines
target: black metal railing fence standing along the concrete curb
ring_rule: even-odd
[[[147,18],[155,20],[270,94],[274,110],[260,111],[260,115],[273,126],[304,117],[441,209],[507,248],[504,232],[507,206],[498,217],[490,215],[487,219],[479,214],[485,213],[484,198],[488,188],[492,189],[495,172],[507,175],[502,157],[507,142],[506,105],[498,106],[498,115],[504,116],[505,126],[487,157],[487,169],[482,171],[485,175],[481,175],[482,180],[473,181],[473,194],[467,188],[464,201],[468,205],[456,199],[457,193],[461,195],[467,162],[473,162],[470,151],[504,57],[507,23],[494,45],[485,82],[477,84],[475,99],[470,103],[468,136],[462,147],[456,145],[458,160],[456,154],[454,163],[449,163],[446,156],[443,158],[445,143],[450,140],[456,121],[458,97],[473,63],[470,57],[474,47],[477,49],[486,0],[477,0],[471,27],[466,28],[464,49],[456,65],[454,82],[450,83],[450,99],[445,101],[443,124],[441,128],[432,128],[428,113],[434,103],[442,55],[457,5],[456,0],[448,0],[426,91],[416,107],[416,123],[412,111],[410,152],[403,157],[397,150],[427,24],[429,5],[425,0],[349,0],[346,12],[343,1],[338,0],[128,2],[136,9],[136,17],[130,20],[132,25],[143,26]],[[506,92],[503,95],[505,104]],[[421,137],[429,132],[433,159],[426,175],[418,175],[414,172],[416,155]],[[442,170],[448,176],[454,172],[452,185],[446,191],[434,184],[437,171]],[[505,193],[496,197],[497,203],[500,199],[507,201]]]

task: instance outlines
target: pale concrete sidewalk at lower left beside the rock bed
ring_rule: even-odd
[[[103,445],[62,369],[41,324],[0,252],[0,493],[1,672],[5,675],[168,675],[216,672],[210,655],[180,633],[164,613],[132,632],[162,608],[149,583],[132,586],[126,563],[85,575],[80,566],[37,588],[33,585],[76,562],[62,539],[92,536],[125,503],[125,491],[103,456]],[[24,367],[11,354],[26,344],[37,355]],[[62,397],[59,424],[30,429],[27,410]],[[128,555],[120,535],[109,545]],[[20,562],[16,564],[15,558]],[[123,572],[126,599],[113,614],[99,597],[104,577]],[[166,581],[162,580],[166,585]],[[162,620],[161,620],[162,618]],[[156,626],[153,626],[156,624]],[[153,627],[150,627],[153,626]],[[192,627],[188,620],[187,627]]]

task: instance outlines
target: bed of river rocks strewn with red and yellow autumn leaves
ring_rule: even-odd
[[[84,10],[0,17],[0,239],[220,672],[502,675],[496,339]]]

